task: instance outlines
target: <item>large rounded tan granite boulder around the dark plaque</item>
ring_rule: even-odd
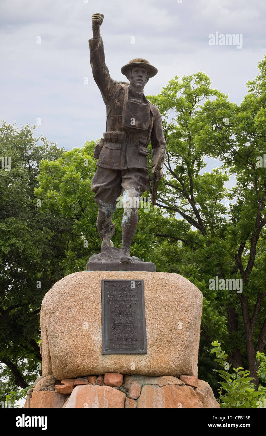
[[[102,354],[102,280],[144,281],[147,354]],[[178,274],[74,272],[42,302],[42,373],[57,380],[107,372],[197,377],[201,315],[202,293]]]

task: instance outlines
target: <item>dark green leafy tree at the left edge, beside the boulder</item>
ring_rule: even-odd
[[[1,400],[17,386],[27,388],[41,374],[39,312],[44,294],[61,278],[64,250],[61,221],[40,214],[34,187],[40,160],[56,160],[64,150],[34,127],[2,123],[0,157],[0,389]],[[11,161],[10,161],[11,160]],[[5,162],[3,159],[1,162]],[[37,362],[39,365],[37,366]]]

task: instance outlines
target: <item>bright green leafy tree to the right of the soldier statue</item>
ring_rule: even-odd
[[[256,384],[256,351],[263,351],[266,340],[266,170],[256,166],[265,152],[265,65],[264,59],[239,107],[211,89],[203,72],[175,77],[149,97],[164,117],[168,139],[156,204],[190,225],[189,238],[175,226],[160,235],[168,241],[186,239],[185,262],[178,259],[176,269],[204,296],[201,351],[208,351],[209,340],[219,335],[236,368],[247,358]],[[204,172],[208,158],[219,167]],[[230,176],[236,178],[232,190],[225,186]],[[216,276],[242,279],[242,293],[209,289]]]

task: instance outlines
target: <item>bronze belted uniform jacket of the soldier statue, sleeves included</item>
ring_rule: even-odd
[[[148,169],[149,142],[152,143],[152,166],[165,147],[160,112],[144,95],[140,99],[129,91],[128,85],[110,77],[101,37],[90,39],[89,46],[92,74],[107,112],[104,146],[97,165],[114,170]]]

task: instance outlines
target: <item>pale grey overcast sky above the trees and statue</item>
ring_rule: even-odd
[[[112,78],[125,80],[120,68],[136,57],[158,68],[145,94],[158,94],[175,75],[204,71],[213,87],[240,103],[266,54],[265,0],[86,1],[0,1],[0,119],[18,126],[40,119],[37,135],[66,149],[105,130],[105,106],[89,63],[94,13],[104,14]],[[215,32],[242,34],[242,48],[209,45]]]

